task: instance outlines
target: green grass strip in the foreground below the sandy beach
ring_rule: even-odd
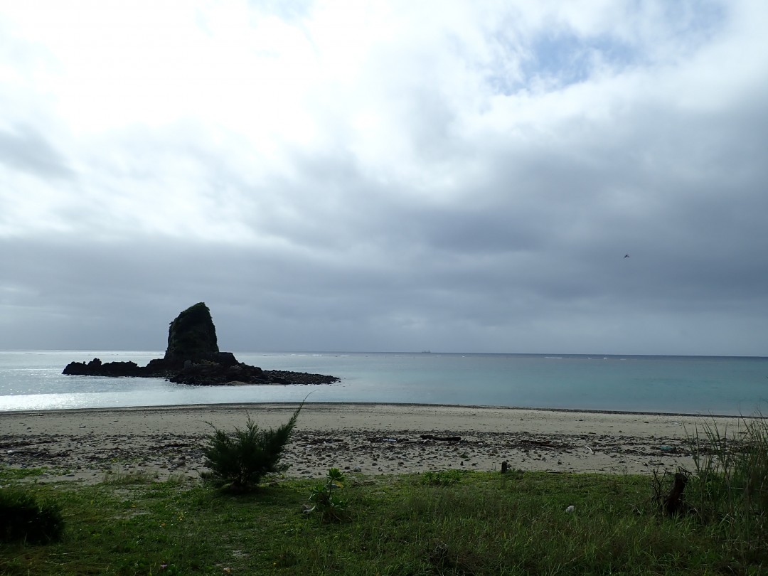
[[[634,475],[348,475],[351,521],[305,515],[316,481],[231,495],[124,476],[28,485],[61,542],[0,545],[0,574],[758,574],[717,524],[664,518]],[[570,514],[565,512],[574,506]],[[746,559],[745,559],[746,558]]]

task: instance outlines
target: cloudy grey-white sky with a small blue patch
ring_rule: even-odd
[[[768,3],[0,0],[0,349],[768,356]],[[627,257],[628,255],[628,257]]]

